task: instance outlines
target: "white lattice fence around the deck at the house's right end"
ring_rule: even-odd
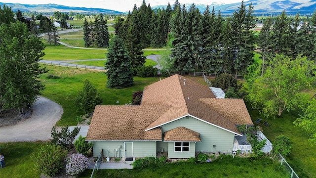
[[[261,149],[261,151],[265,152],[265,153],[271,153],[272,148],[273,148],[272,143],[269,141],[269,139],[261,131],[257,132],[257,139],[259,141],[266,139],[267,140],[266,145]],[[252,147],[251,147],[251,145],[234,144],[233,153],[236,153],[238,150],[240,150],[241,153],[246,153],[246,152],[251,153]]]

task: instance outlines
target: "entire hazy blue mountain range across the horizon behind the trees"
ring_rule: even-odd
[[[245,4],[248,6],[252,3],[254,6],[254,13],[257,15],[261,14],[279,14],[284,9],[287,14],[296,14],[300,12],[300,14],[312,14],[316,11],[316,0],[248,0],[245,1]],[[20,9],[21,11],[37,11],[37,12],[92,12],[92,13],[105,13],[105,14],[123,14],[127,12],[119,12],[110,9],[103,9],[103,8],[86,8],[86,7],[70,7],[65,5],[58,5],[58,4],[21,4],[21,3],[3,3],[0,2],[0,5],[6,4],[10,6],[13,11]],[[191,4],[185,4],[186,7],[190,7]],[[206,5],[209,5],[210,8],[214,6],[214,9],[218,11],[221,10],[223,15],[232,14],[235,10],[238,9],[240,6],[240,2],[237,3],[219,3],[213,2],[211,4],[196,4],[197,8],[203,12],[206,8]],[[166,5],[158,5],[152,7],[155,8],[162,8],[166,7]]]

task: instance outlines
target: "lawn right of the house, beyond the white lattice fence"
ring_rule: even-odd
[[[315,94],[316,89],[307,91]],[[312,94],[311,94],[312,97]],[[308,142],[307,133],[299,127],[295,127],[293,122],[299,118],[297,112],[284,111],[281,117],[265,118],[259,114],[257,109],[252,109],[251,105],[247,103],[249,114],[255,126],[263,128],[263,133],[268,139],[273,142],[277,135],[286,135],[291,139],[292,149],[291,154],[285,159],[290,164],[292,169],[300,178],[315,178],[316,177],[316,146],[312,147]],[[264,122],[255,123],[255,120],[262,118],[267,121],[269,126],[264,126]]]

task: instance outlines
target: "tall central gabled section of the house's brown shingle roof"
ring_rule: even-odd
[[[158,105],[172,106],[146,130],[190,114],[234,133],[240,133],[234,123],[199,101],[199,98],[215,98],[215,95],[207,86],[177,74],[145,87],[141,105],[155,105],[157,102]]]

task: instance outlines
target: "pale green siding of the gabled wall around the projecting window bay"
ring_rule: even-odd
[[[164,133],[180,126],[186,127],[192,131],[199,133],[202,142],[196,143],[197,152],[232,152],[235,134],[197,120],[193,117],[184,117],[178,119],[176,121],[161,126],[161,128],[162,132]],[[213,147],[213,145],[216,146]],[[170,150],[169,147],[168,150]]]

